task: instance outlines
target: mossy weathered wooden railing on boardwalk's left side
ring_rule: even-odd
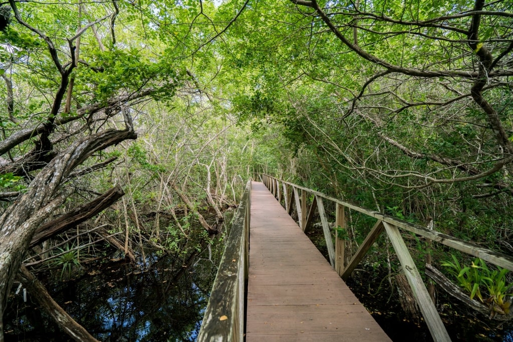
[[[233,218],[203,316],[198,335],[200,342],[244,340],[250,209],[251,180],[246,184],[239,209]]]

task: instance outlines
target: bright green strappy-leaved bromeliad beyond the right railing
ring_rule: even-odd
[[[511,301],[507,297],[513,296],[513,293],[508,292],[513,283],[507,284],[508,270],[498,267],[497,270],[492,271],[480,258],[474,259],[470,266],[464,267],[453,254],[452,260],[454,263],[444,261],[442,266],[447,267],[449,273],[458,279],[459,285],[470,294],[470,299],[479,299],[481,303],[491,309],[492,314],[505,315],[509,313]],[[485,294],[481,292],[483,287],[487,291]],[[484,295],[487,295],[486,299]]]

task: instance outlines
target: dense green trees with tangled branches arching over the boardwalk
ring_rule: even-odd
[[[0,313],[65,213],[109,198],[48,238],[187,259],[257,172],[513,253],[510,1],[9,0],[0,30]]]

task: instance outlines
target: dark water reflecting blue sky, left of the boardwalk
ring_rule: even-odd
[[[150,256],[147,268],[124,261],[100,265],[79,278],[54,281],[52,297],[101,341],[194,341],[216,266],[200,258],[176,266],[172,256]],[[28,294],[12,296],[4,315],[6,341],[71,340]]]

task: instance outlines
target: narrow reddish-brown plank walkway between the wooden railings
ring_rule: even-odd
[[[246,341],[390,341],[267,188],[251,191]]]

